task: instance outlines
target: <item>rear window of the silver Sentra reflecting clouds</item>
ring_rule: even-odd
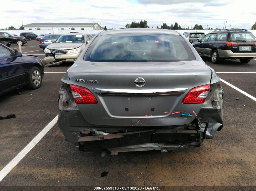
[[[170,62],[194,60],[185,40],[172,34],[98,36],[85,54],[92,62]]]

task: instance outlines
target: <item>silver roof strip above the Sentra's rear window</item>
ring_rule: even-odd
[[[175,30],[168,29],[150,29],[150,28],[130,28],[130,29],[114,29],[114,30],[104,30],[98,33],[98,36],[108,35],[108,34],[125,34],[125,33],[161,33],[161,34],[176,34],[179,33]]]

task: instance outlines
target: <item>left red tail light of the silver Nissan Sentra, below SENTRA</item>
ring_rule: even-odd
[[[96,104],[98,101],[95,96],[87,88],[70,84],[70,88],[75,100],[75,103],[81,104]]]

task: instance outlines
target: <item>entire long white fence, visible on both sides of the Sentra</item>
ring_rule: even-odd
[[[95,33],[99,33],[101,30],[58,30],[58,34],[65,34],[65,33],[69,33],[69,32],[78,32],[78,33],[88,33],[88,34],[95,34]],[[214,30],[177,30],[179,33],[184,33],[186,31],[190,31],[190,32],[204,32],[205,34],[208,34]],[[256,36],[256,30],[248,30],[251,33],[254,34],[254,36]],[[11,34],[16,34],[16,35],[20,35],[20,33],[22,32],[32,32],[35,33],[37,35],[39,34],[53,34],[53,30],[0,30],[0,32],[8,32]]]

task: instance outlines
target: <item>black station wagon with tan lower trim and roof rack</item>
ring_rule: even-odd
[[[214,30],[192,45],[199,55],[211,57],[212,63],[220,59],[240,59],[248,63],[256,57],[256,38],[245,29]]]

